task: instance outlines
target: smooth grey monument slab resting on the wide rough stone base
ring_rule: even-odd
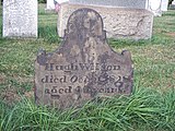
[[[70,3],[145,9],[148,0],[70,0]]]

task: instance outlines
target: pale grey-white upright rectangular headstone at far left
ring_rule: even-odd
[[[37,37],[37,0],[3,0],[3,37]]]

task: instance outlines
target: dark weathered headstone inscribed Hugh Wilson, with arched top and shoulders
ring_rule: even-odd
[[[129,95],[131,64],[129,51],[117,53],[108,46],[101,15],[91,9],[77,10],[68,20],[62,45],[37,56],[36,103],[66,108],[96,96]]]

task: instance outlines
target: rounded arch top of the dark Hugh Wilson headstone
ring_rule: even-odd
[[[67,34],[82,34],[85,36],[102,36],[103,20],[101,15],[92,9],[79,9],[74,11],[67,23]]]

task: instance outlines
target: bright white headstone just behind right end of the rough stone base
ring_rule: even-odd
[[[162,15],[161,4],[162,0],[149,0],[147,9],[153,12],[154,16],[161,16]]]

